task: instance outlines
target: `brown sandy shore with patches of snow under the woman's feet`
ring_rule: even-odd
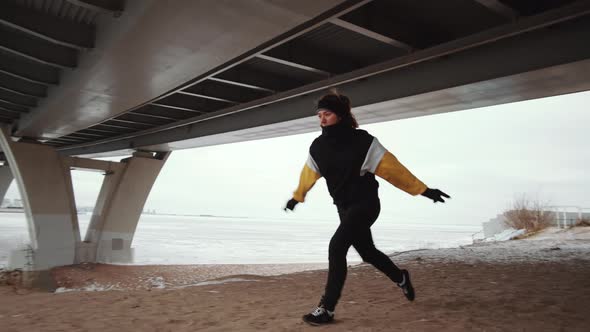
[[[394,255],[412,272],[413,303],[372,267],[351,267],[336,322],[326,327],[300,319],[318,301],[325,270],[273,275],[287,267],[77,266],[57,274],[62,286],[104,289],[118,280],[120,290],[0,287],[0,330],[587,331],[590,228],[578,233]],[[253,272],[233,275],[240,269]],[[198,276],[204,273],[218,279],[204,282]],[[193,274],[198,277],[179,277]]]

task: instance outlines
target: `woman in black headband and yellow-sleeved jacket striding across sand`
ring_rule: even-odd
[[[421,194],[436,202],[450,198],[438,189],[430,189],[408,171],[377,140],[358,124],[350,110],[350,100],[337,92],[325,95],[317,105],[322,134],[309,149],[309,157],[299,186],[285,210],[305,200],[315,182],[324,177],[340,216],[340,226],[329,247],[329,270],[325,293],[318,307],[304,315],[312,325],[330,323],[346,279],[346,254],[353,246],[363,261],[372,264],[414,300],[414,289],[407,270],[400,270],[373,243],[371,225],[380,211],[375,175],[411,194]],[[442,196],[442,197],[441,197]]]

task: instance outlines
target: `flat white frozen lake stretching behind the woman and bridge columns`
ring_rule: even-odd
[[[84,234],[90,215],[78,217]],[[336,219],[142,215],[132,247],[135,264],[325,263],[328,243],[337,226]],[[481,226],[378,220],[371,229],[377,248],[390,253],[470,244],[472,234]],[[28,242],[25,215],[0,213],[0,266],[7,263],[10,250]],[[348,259],[360,261],[354,249]]]

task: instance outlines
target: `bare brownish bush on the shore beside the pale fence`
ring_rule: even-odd
[[[516,199],[512,208],[504,212],[506,225],[515,229],[525,229],[527,233],[538,232],[551,225],[554,213],[547,210],[547,204],[529,200],[526,195]]]

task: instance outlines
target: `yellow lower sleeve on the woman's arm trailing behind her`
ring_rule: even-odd
[[[375,175],[385,179],[410,195],[418,195],[426,190],[426,185],[418,180],[397,158],[386,151],[375,169]]]

